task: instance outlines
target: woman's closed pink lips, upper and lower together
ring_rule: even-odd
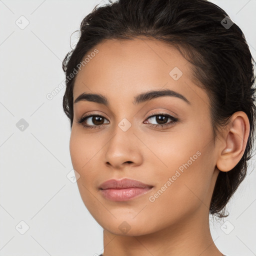
[[[127,201],[152,189],[152,185],[138,180],[123,178],[109,179],[99,185],[99,190],[106,199],[113,201]]]

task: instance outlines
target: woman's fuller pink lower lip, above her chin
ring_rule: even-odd
[[[151,190],[150,187],[129,187],[122,189],[101,189],[103,196],[112,201],[127,201]]]

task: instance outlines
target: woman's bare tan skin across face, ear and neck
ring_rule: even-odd
[[[209,229],[209,205],[219,171],[229,171],[245,150],[249,122],[242,111],[213,143],[209,98],[191,75],[191,64],[180,52],[155,39],[105,40],[99,52],[78,72],[73,98],[83,92],[104,95],[109,105],[91,101],[74,103],[70,156],[79,173],[81,198],[103,227],[105,256],[220,256]],[[182,71],[174,80],[169,72]],[[197,82],[198,83],[198,82]],[[190,104],[163,96],[134,105],[133,97],[153,89],[172,89]],[[165,128],[152,112],[177,117]],[[104,124],[95,129],[77,123],[85,113],[100,114]],[[131,126],[123,131],[118,123]],[[168,119],[166,123],[170,122]],[[92,123],[92,118],[86,121]],[[190,157],[192,163],[155,198],[153,196]],[[78,174],[77,174],[78,176]],[[98,186],[123,177],[153,186],[146,194],[125,202],[105,199]],[[125,224],[123,221],[126,221]],[[130,228],[123,231],[119,225]]]

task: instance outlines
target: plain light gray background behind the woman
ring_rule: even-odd
[[[105,0],[106,1],[106,0]],[[256,0],[212,0],[243,30],[256,59]],[[70,128],[62,110],[61,61],[72,32],[103,0],[0,0],[0,256],[97,255],[102,228],[85,208],[72,174]],[[23,15],[29,24],[20,29]],[[78,33],[71,36],[71,45]],[[21,131],[16,123],[25,119]],[[228,256],[256,255],[255,157],[228,203],[210,219],[213,240]],[[25,231],[25,224],[29,229]],[[212,225],[214,222],[214,226]],[[232,230],[232,227],[234,228]],[[232,230],[232,231],[230,231]],[[227,234],[228,233],[228,234]]]

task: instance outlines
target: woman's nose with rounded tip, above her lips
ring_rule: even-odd
[[[137,166],[142,162],[141,141],[133,133],[132,125],[125,131],[116,125],[105,146],[105,164],[115,169],[127,165]]]

